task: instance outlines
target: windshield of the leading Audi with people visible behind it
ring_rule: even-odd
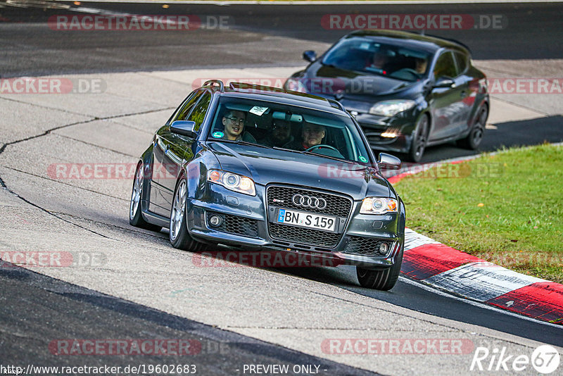
[[[222,97],[208,140],[315,153],[362,164],[370,158],[348,116],[271,101]]]

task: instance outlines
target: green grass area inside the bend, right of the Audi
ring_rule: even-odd
[[[485,154],[406,177],[396,189],[412,230],[505,268],[563,282],[562,146]]]

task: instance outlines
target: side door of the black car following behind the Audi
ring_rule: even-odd
[[[445,139],[454,134],[460,125],[460,106],[467,94],[467,84],[459,77],[453,51],[442,51],[434,65],[434,82],[453,80],[451,87],[434,87],[431,92],[433,127],[429,141]]]

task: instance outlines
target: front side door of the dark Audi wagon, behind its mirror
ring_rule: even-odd
[[[170,193],[170,185],[175,184],[177,169],[179,168],[177,163],[168,156],[172,145],[171,141],[177,137],[177,134],[170,132],[170,124],[175,120],[187,120],[202,95],[203,91],[192,92],[177,108],[169,122],[156,132],[153,146],[151,205],[149,208],[153,213],[164,216],[170,215],[170,197],[173,194],[173,192]],[[182,163],[182,160],[179,162]],[[172,187],[172,189],[174,189],[174,187]]]

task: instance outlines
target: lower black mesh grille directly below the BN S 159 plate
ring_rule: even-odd
[[[339,244],[342,234],[270,223],[270,236],[288,242],[333,248],[336,244]]]

